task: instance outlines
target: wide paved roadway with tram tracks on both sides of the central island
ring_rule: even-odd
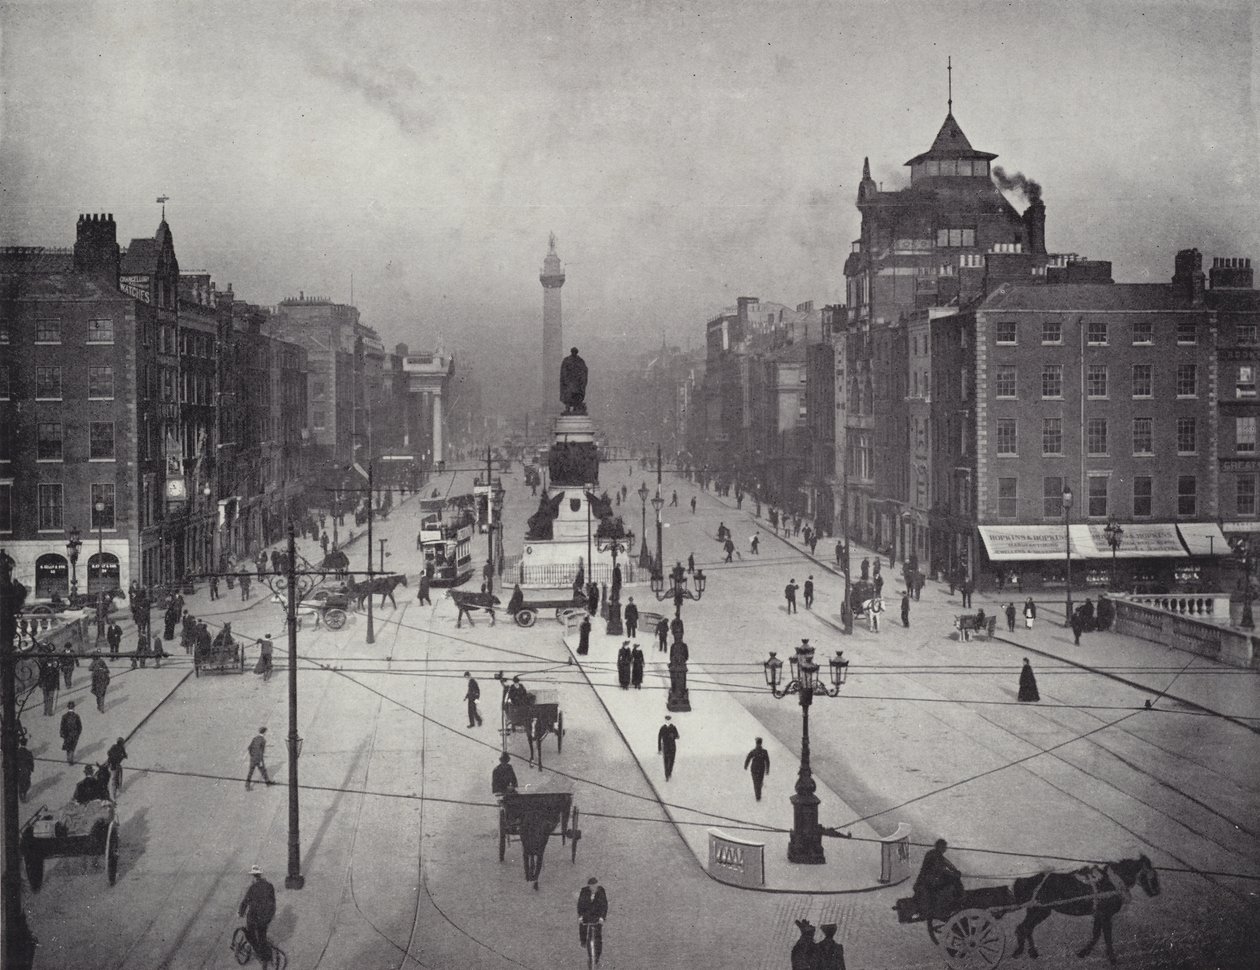
[[[626,481],[634,501],[643,476],[626,477],[624,467],[609,469],[614,474],[605,484]],[[462,475],[455,488],[465,488],[467,479]],[[510,554],[519,547],[519,538],[514,545],[510,537],[519,537],[537,500],[519,476],[505,484]],[[667,484],[667,493],[672,488]],[[752,529],[747,514],[701,493],[692,516],[690,486],[678,489],[680,506],[665,510],[667,562],[694,549],[711,576],[703,601],[684,607],[693,656],[712,678],[692,684],[697,710],[706,692],[730,690],[765,732],[798,751],[799,710],[790,699],[769,698],[760,663],[770,649],[784,656],[809,636],[824,651],[843,646],[853,661],[843,697],[813,708],[815,771],[877,828],[905,820],[916,842],[949,838],[960,847],[959,864],[976,882],[1009,881],[1042,864],[1071,865],[1062,858],[1138,852],[1172,869],[1260,872],[1254,733],[1167,702],[1147,712],[1134,688],[1056,664],[1048,655],[1061,646],[1062,632],[1048,624],[1036,631],[1041,653],[1033,655],[1042,704],[1019,705],[1021,648],[954,641],[954,607],[932,586],[915,606],[908,634],[886,625],[878,635],[859,631],[842,640],[835,631],[839,586],[823,579],[823,563],[810,563],[799,543],[771,539],[762,528],[757,561],[741,542],[745,558],[722,566],[717,525],[724,522],[746,539]],[[638,530],[639,510],[621,508]],[[391,566],[412,577],[416,527],[408,503],[378,529],[396,553]],[[360,559],[362,547],[352,547]],[[809,572],[820,585],[815,610],[789,617],[781,608],[782,586],[789,576],[801,581]],[[479,620],[472,630],[456,630],[450,601],[436,598],[432,608],[416,605],[413,582],[399,593],[396,610],[378,613],[373,646],[363,642],[362,616],[339,634],[302,632],[306,888],[282,888],[285,671],[268,684],[252,674],[190,679],[130,745],[134,771],[120,801],[118,884],[108,888],[91,862],[64,860],[49,867],[44,891],[28,897],[43,941],[38,965],[226,966],[246,872],[260,862],[280,889],[272,935],[295,967],[578,966],[573,908],[590,873],[601,876],[612,901],[606,966],[786,966],[795,937],[791,920],[800,915],[842,923],[849,966],[941,966],[922,927],[895,922],[891,906],[900,891],[843,899],[775,897],[709,881],[585,682],[567,668],[558,626],[520,630]],[[643,590],[636,600],[648,597]],[[280,637],[280,619],[277,607],[260,601],[238,613],[233,627]],[[1012,639],[1023,642],[1024,636]],[[1091,649],[1105,660],[1106,637],[1096,642]],[[1130,646],[1126,670],[1143,656]],[[1169,680],[1176,661],[1188,660],[1158,648],[1144,655],[1147,668],[1171,670]],[[537,892],[524,882],[518,845],[498,862],[498,820],[488,789],[499,737],[489,716],[485,727],[465,728],[465,669],[480,679],[488,714],[495,709],[491,676],[500,669],[532,684],[552,682],[562,692],[568,733],[563,752],[547,748],[547,766],[573,779],[583,839],[576,865],[567,847],[552,840]],[[1203,683],[1197,689],[1210,692],[1210,678],[1221,674],[1200,675],[1192,668],[1177,684],[1188,676],[1198,676]],[[1237,705],[1237,680],[1230,683],[1230,703]],[[145,692],[131,693],[139,721]],[[154,693],[146,697],[152,700]],[[131,703],[122,692],[118,699]],[[663,692],[645,697],[644,704],[645,716],[655,719]],[[127,709],[120,707],[118,717]],[[1232,713],[1255,717],[1260,703]],[[246,792],[244,746],[260,724],[270,727],[268,761],[281,784]],[[522,742],[509,739],[509,751],[523,753]],[[685,747],[680,752],[679,800],[685,797],[687,758],[703,756]],[[523,762],[517,767],[523,781],[539,777]],[[793,773],[794,766],[775,765],[772,777],[786,787]],[[737,814],[741,799],[752,796],[738,766],[731,776],[731,811]],[[782,818],[786,826],[786,801]],[[825,804],[823,818],[853,821],[830,818]],[[1162,896],[1135,894],[1118,920],[1116,947],[1125,965],[1206,966],[1213,959],[1245,965],[1225,957],[1246,932],[1255,939],[1256,883],[1177,872],[1164,872],[1162,882]],[[1087,932],[1085,920],[1055,917],[1042,925],[1042,962],[1067,961]],[[1072,957],[1075,966],[1102,961],[1101,950],[1087,961]]]

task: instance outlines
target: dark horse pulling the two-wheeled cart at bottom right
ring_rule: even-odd
[[[1106,946],[1106,959],[1114,964],[1111,920],[1129,901],[1129,889],[1134,883],[1139,884],[1147,896],[1159,896],[1159,873],[1145,855],[1102,865],[1086,865],[1075,872],[1050,872],[1016,879],[1016,902],[1027,906],[1027,911],[1023,922],[1016,927],[1018,945],[1011,955],[1019,956],[1027,941],[1028,956],[1036,959],[1037,945],[1033,942],[1032,931],[1040,922],[1050,918],[1051,913],[1092,916],[1094,935],[1076,955],[1089,956],[1101,933]]]

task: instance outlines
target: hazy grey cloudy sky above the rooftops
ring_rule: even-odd
[[[1256,8],[1178,3],[0,3],[0,243],[126,242],[238,297],[354,302],[537,399],[554,232],[564,343],[701,346],[737,296],[843,302],[862,160],[946,112],[1037,179],[1047,246],[1163,281],[1260,260]],[[557,368],[558,368],[558,363]]]

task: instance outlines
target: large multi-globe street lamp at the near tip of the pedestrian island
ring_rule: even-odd
[[[848,680],[849,661],[844,659],[843,650],[837,650],[835,656],[828,659],[830,688],[818,678],[819,666],[814,663],[814,648],[809,645],[809,640],[800,641],[796,653],[789,658],[789,664],[791,679],[781,690],[779,682],[782,678],[784,661],[771,650],[770,659],[762,664],[771,694],[776,698],[800,695],[800,771],[796,773],[796,794],[790,799],[793,829],[788,836],[788,862],[822,865],[827,862],[823,854],[823,835],[839,833],[818,824],[819,797],[814,794],[818,786],[809,767],[809,705],[814,702],[814,694],[835,697],[840,693],[840,688]]]

